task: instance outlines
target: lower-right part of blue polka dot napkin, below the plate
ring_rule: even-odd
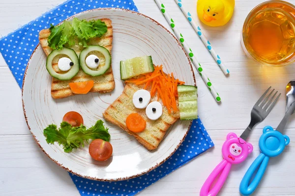
[[[140,177],[119,182],[98,182],[72,173],[70,176],[81,196],[134,196],[213,146],[203,123],[198,118],[193,121],[177,151],[161,166]]]

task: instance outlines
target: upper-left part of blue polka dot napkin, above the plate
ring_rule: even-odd
[[[0,52],[20,87],[32,51],[38,45],[39,31],[57,25],[80,12],[102,8],[119,7],[138,11],[132,0],[68,0],[53,8],[29,24],[0,38]]]

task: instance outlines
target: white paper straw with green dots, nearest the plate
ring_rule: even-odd
[[[170,24],[170,26],[172,27],[172,29],[174,30],[178,40],[180,41],[180,43],[182,44],[183,48],[185,49],[185,51],[188,53],[192,63],[194,64],[194,66],[196,67],[196,69],[198,70],[199,74],[201,75],[201,77],[203,78],[204,82],[206,83],[208,89],[210,90],[211,94],[213,95],[213,97],[215,98],[215,100],[217,102],[221,101],[220,96],[218,95],[218,93],[216,92],[212,82],[210,81],[210,79],[207,77],[207,74],[204,72],[203,67],[201,66],[201,64],[199,63],[198,59],[196,58],[196,56],[194,55],[193,51],[190,49],[190,47],[188,46],[188,44],[186,43],[183,35],[180,33],[179,29],[177,28],[177,26],[175,25],[173,19],[170,17],[170,15],[168,14],[167,10],[165,9],[165,6],[163,3],[160,2],[160,0],[155,0],[155,2],[157,3],[159,9],[162,11],[163,15],[165,16],[167,22]]]

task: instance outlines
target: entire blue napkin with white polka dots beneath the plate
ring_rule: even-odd
[[[18,30],[0,38],[0,52],[19,86],[32,51],[38,45],[38,33],[50,24],[85,10],[100,7],[120,7],[138,11],[132,0],[68,0]],[[70,173],[81,196],[133,196],[162,177],[173,172],[194,157],[213,147],[200,119],[193,121],[185,141],[165,163],[140,177],[118,182],[88,180]],[[198,168],[201,169],[201,168]]]

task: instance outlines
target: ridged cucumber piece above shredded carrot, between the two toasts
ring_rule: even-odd
[[[122,80],[153,71],[154,67],[151,56],[141,56],[120,61],[120,73]]]

